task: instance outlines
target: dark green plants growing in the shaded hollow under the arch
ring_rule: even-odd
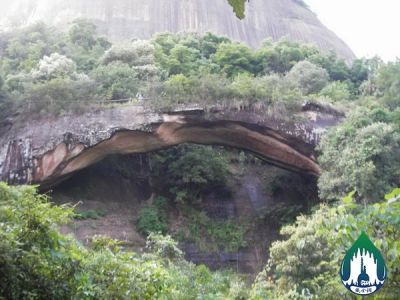
[[[156,197],[139,211],[139,232],[166,233],[167,212],[177,210],[182,219],[178,232],[168,233],[179,241],[194,243],[203,252],[233,252],[246,246],[245,224],[232,219],[213,220],[199,209],[208,193],[229,193],[226,154],[218,147],[197,145],[179,145],[152,154],[152,176],[158,192],[167,198]]]

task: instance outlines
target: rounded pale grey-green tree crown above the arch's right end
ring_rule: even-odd
[[[329,75],[325,69],[304,60],[290,70],[287,79],[308,95],[318,93],[328,83]]]

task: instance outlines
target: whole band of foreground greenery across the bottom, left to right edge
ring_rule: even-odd
[[[230,272],[210,272],[183,260],[169,236],[149,235],[146,254],[122,251],[120,243],[97,236],[90,249],[57,227],[73,211],[55,206],[33,187],[0,184],[0,293],[7,299],[295,299],[331,295],[350,298],[337,277],[340,260],[361,230],[385,257],[390,273],[378,299],[395,299],[400,284],[400,189],[374,205],[348,196],[310,216],[300,216],[270,250],[266,269],[251,290]],[[375,224],[370,226],[370,224]],[[219,224],[221,225],[221,224]],[[213,233],[222,240],[220,233]]]

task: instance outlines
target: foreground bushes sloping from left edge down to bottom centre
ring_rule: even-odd
[[[34,187],[0,183],[0,295],[5,299],[243,299],[231,272],[210,272],[182,258],[170,237],[151,234],[148,253],[122,251],[106,237],[87,249],[57,227],[73,210]]]

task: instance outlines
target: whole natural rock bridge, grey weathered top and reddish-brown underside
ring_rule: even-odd
[[[49,187],[110,154],[144,153],[181,143],[224,145],[253,152],[276,166],[318,176],[314,148],[340,120],[309,106],[283,121],[263,110],[214,106],[155,111],[141,105],[1,125],[1,180]],[[314,111],[312,111],[314,110]]]

